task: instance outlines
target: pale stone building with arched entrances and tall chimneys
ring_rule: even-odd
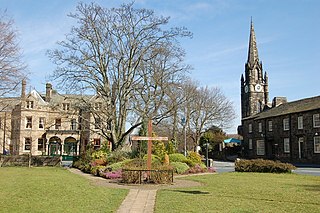
[[[79,105],[102,105],[97,96],[59,94],[50,83],[46,93],[32,90],[26,94],[22,82],[20,97],[0,99],[0,147],[14,155],[76,156],[87,144],[95,148],[106,142],[99,134],[98,119]]]

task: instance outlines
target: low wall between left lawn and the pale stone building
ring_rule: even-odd
[[[31,161],[30,161],[31,160]],[[60,156],[0,155],[0,167],[5,166],[60,166]]]

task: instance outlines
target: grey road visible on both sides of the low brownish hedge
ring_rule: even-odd
[[[234,172],[233,162],[214,161],[213,165],[217,169],[218,173]],[[300,175],[320,176],[320,168],[312,165],[310,166],[297,165],[297,169],[294,170],[293,173],[300,174]]]

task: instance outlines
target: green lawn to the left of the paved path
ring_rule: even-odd
[[[0,212],[115,212],[127,193],[62,168],[0,168]]]

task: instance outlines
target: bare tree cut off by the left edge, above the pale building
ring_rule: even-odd
[[[0,97],[16,92],[25,78],[17,37],[13,20],[0,11]]]

